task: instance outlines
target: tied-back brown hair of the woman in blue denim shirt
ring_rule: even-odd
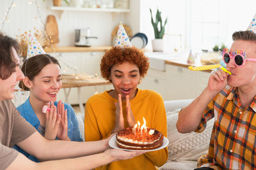
[[[58,60],[51,55],[40,54],[27,59],[23,63],[21,71],[25,76],[29,78],[29,80],[32,81],[34,80],[35,76],[37,76],[40,71],[48,64],[57,64],[58,66],[60,66]],[[19,87],[23,90],[29,91],[29,88],[24,85],[23,81],[20,81]]]

